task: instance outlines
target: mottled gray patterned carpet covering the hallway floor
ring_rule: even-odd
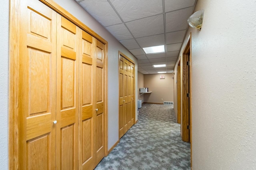
[[[190,170],[190,143],[181,140],[172,105],[142,104],[138,123],[95,170]]]

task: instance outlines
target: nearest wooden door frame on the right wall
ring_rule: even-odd
[[[191,45],[191,32],[188,36],[188,39],[186,41],[186,46],[184,47],[183,51],[182,51],[182,58],[184,58],[186,55],[189,54],[189,62],[190,62],[190,66],[189,66],[189,105],[190,105],[190,110],[189,110],[189,142],[190,142],[190,166],[192,167],[192,88],[191,88],[191,84],[192,84],[192,45]],[[188,119],[188,117],[187,117]]]

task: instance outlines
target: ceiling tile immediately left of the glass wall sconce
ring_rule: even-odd
[[[188,18],[191,16],[194,7],[168,12],[166,18],[166,32],[173,32],[186,29],[188,27]]]

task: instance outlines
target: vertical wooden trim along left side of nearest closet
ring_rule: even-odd
[[[20,0],[10,0],[10,37],[9,37],[9,169],[19,169],[19,57],[20,41]],[[12,50],[11,50],[12,49]],[[24,51],[23,51],[24,53]],[[12,161],[11,161],[12,160]]]

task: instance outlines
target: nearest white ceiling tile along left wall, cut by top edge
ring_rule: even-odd
[[[105,27],[122,23],[119,16],[106,0],[84,0],[79,2],[79,4]]]

